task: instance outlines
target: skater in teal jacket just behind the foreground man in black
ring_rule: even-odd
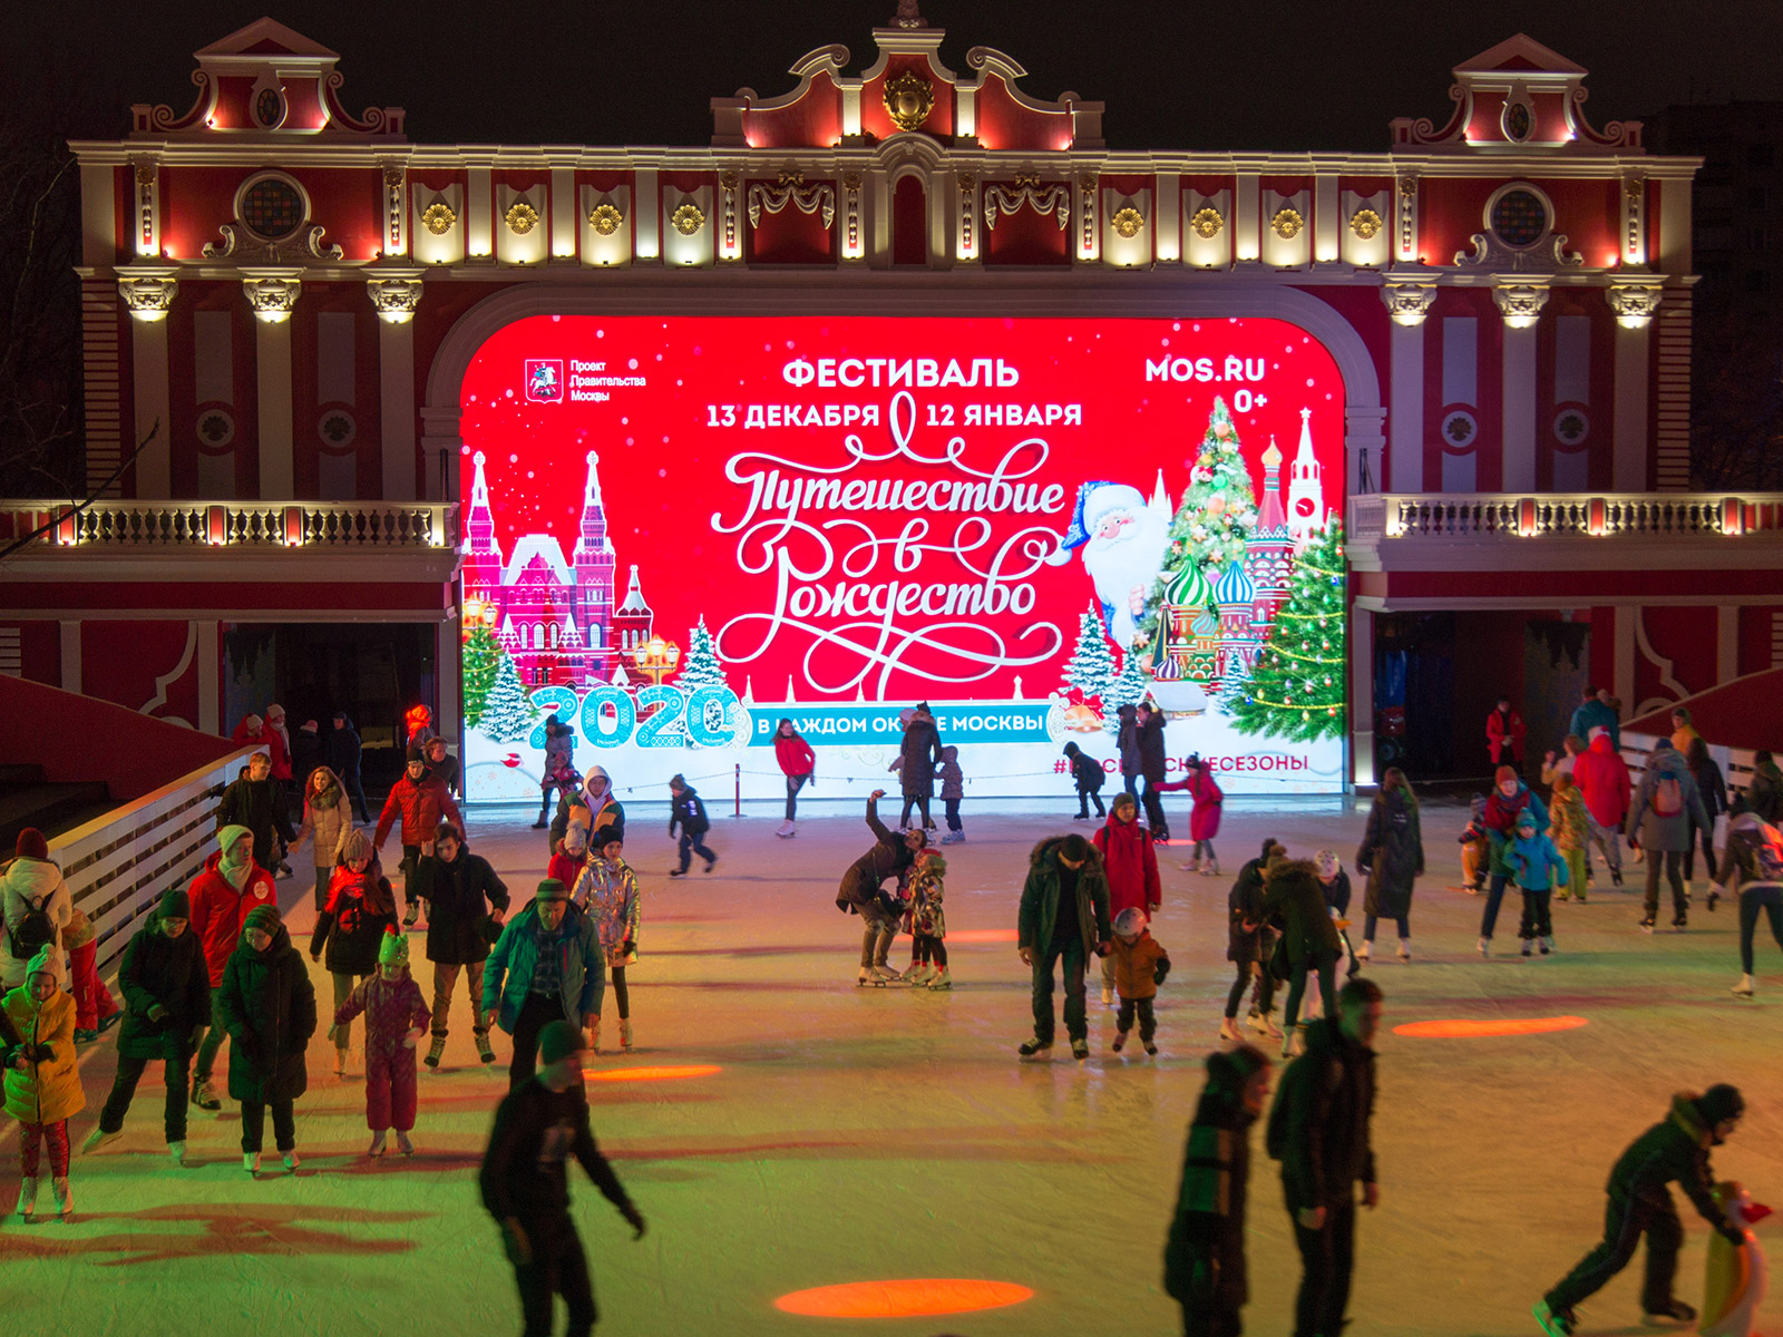
[[[581,1029],[601,1014],[604,975],[594,920],[571,902],[567,886],[547,877],[503,925],[483,966],[483,1013],[514,1038],[510,1089],[533,1075],[549,1021]]]

